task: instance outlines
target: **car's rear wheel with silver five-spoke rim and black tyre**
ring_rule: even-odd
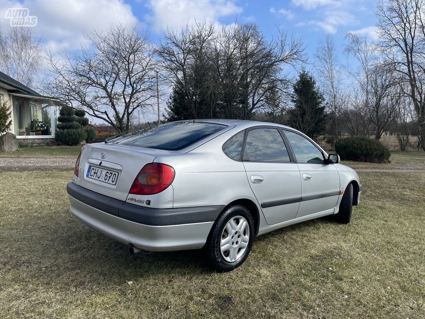
[[[254,229],[254,220],[245,206],[225,208],[214,222],[205,246],[210,267],[226,272],[242,265],[251,250]]]

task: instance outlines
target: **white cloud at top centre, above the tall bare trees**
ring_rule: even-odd
[[[145,15],[145,19],[152,23],[154,31],[181,28],[195,19],[218,22],[222,17],[242,12],[233,0],[150,0],[147,6],[152,13]]]

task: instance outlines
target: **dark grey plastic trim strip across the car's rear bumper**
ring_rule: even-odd
[[[150,208],[123,202],[90,191],[70,182],[66,186],[69,196],[105,213],[150,226],[169,226],[213,222],[224,205],[186,208]]]

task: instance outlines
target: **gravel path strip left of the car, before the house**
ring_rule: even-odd
[[[75,159],[72,158],[0,158],[0,169],[49,169],[73,168]]]

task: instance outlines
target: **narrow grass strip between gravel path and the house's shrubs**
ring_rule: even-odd
[[[77,158],[82,145],[77,146],[34,146],[20,147],[16,152],[0,152],[0,157],[39,157],[39,158],[54,158],[66,157]]]

